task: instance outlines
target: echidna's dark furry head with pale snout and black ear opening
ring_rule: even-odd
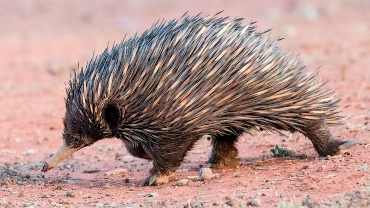
[[[99,120],[96,118],[96,114],[89,113],[89,110],[82,111],[81,108],[67,107],[63,120],[63,144],[44,163],[41,171],[54,168],[74,152],[84,147],[101,139],[113,137],[112,128],[114,128],[114,122],[117,122],[118,113],[117,108],[107,105],[102,111],[104,119]]]

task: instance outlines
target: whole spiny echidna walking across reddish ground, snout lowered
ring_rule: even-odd
[[[188,16],[153,25],[108,46],[71,77],[63,145],[50,170],[73,152],[120,138],[136,157],[151,159],[143,185],[168,182],[194,143],[212,136],[211,167],[238,165],[239,135],[300,132],[321,156],[352,147],[333,138],[340,100],[316,81],[292,51],[283,53],[243,18]]]

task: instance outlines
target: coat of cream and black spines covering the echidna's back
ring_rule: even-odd
[[[126,129],[169,136],[300,131],[321,114],[339,123],[339,100],[325,83],[242,20],[196,16],[152,26],[91,60],[68,99],[81,100],[86,89],[86,106],[111,100],[124,108]],[[87,80],[85,88],[77,80]]]

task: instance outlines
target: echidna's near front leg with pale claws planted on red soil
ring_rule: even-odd
[[[141,181],[140,186],[161,185],[169,182],[169,177],[176,171],[184,160],[186,153],[193,147],[195,141],[182,140],[181,144],[148,145],[143,148],[152,158],[153,167],[150,175]]]

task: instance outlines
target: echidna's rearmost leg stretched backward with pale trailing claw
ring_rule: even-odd
[[[322,157],[342,154],[343,150],[356,145],[355,140],[340,141],[334,139],[324,117],[321,117],[320,120],[308,123],[304,131],[311,140],[316,152]]]

